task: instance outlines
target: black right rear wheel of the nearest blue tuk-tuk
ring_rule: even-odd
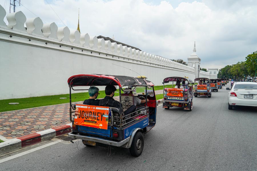
[[[138,157],[143,152],[144,148],[144,137],[143,134],[138,131],[133,137],[129,152],[132,156]]]

